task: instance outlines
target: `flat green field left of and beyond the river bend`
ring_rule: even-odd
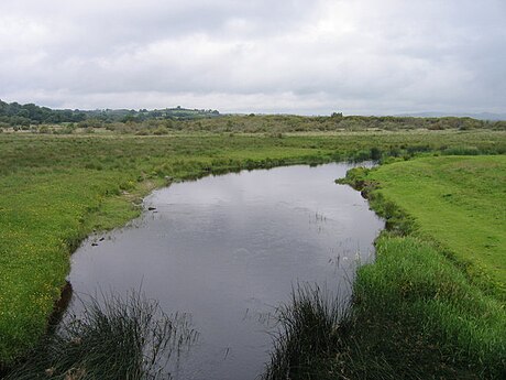
[[[140,197],[156,186],[293,163],[505,151],[506,133],[486,129],[304,135],[1,133],[0,362],[12,365],[44,334],[69,269],[69,254],[79,241],[139,215]],[[504,170],[504,162],[501,165]],[[452,194],[448,200],[458,195],[454,188],[446,192]],[[501,199],[504,205],[504,193]],[[431,230],[420,228],[426,231]],[[501,250],[501,241],[491,240],[495,246],[490,251]],[[497,282],[504,272],[492,270],[494,260],[475,262]]]

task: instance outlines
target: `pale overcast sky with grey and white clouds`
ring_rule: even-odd
[[[506,112],[505,0],[1,0],[0,99]]]

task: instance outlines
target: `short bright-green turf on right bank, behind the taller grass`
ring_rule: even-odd
[[[440,156],[383,165],[369,178],[470,279],[506,300],[506,156]]]

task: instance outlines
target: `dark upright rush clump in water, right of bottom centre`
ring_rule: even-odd
[[[298,284],[276,310],[277,332],[264,380],[332,379],[336,348],[348,328],[348,307],[318,285]]]

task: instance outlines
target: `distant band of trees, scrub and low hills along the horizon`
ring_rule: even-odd
[[[95,133],[106,129],[121,133],[166,134],[174,131],[282,133],[362,130],[506,130],[502,115],[480,113],[444,116],[420,112],[404,116],[330,116],[228,115],[211,109],[183,107],[164,109],[51,109],[33,104],[20,105],[0,100],[0,132],[36,131],[40,133]],[[479,120],[480,119],[480,120]]]

